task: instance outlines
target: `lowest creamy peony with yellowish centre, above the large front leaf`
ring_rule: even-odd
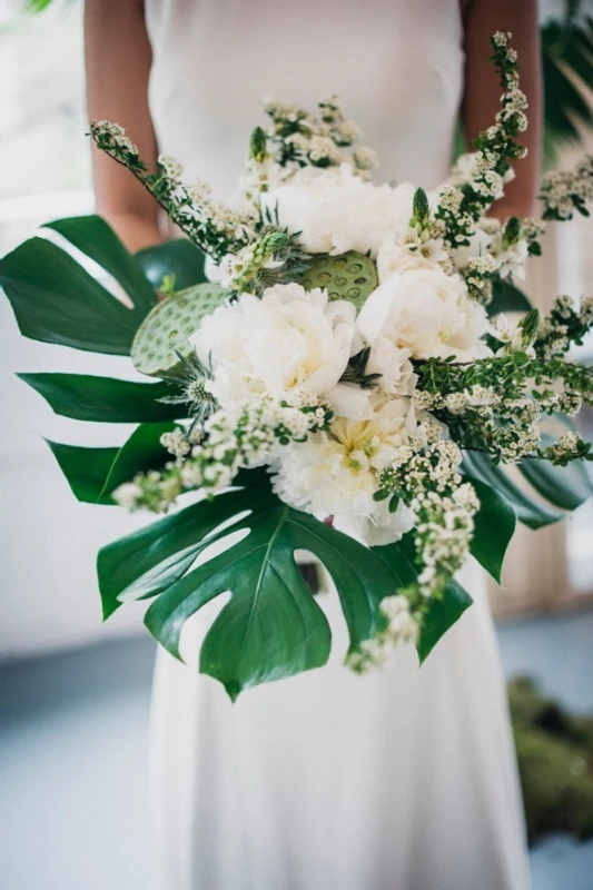
[[[287,504],[317,516],[334,515],[334,524],[367,544],[397,541],[413,525],[403,504],[389,513],[376,502],[378,471],[388,466],[395,449],[411,435],[422,435],[407,398],[370,396],[373,414],[366,421],[337,417],[332,432],[316,433],[305,443],[283,447],[274,490]]]

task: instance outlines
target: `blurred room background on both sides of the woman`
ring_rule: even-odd
[[[0,256],[49,219],[92,211],[81,16],[77,0],[0,0]],[[593,0],[542,2],[541,20],[546,165],[565,167],[593,150]],[[559,291],[591,294],[591,224],[563,224],[546,240],[532,300],[546,309]],[[592,360],[593,340],[580,353]],[[127,375],[125,359],[106,360]],[[0,300],[3,890],[164,890],[146,787],[154,644],[140,605],[101,624],[95,578],[97,550],[139,521],[77,503],[42,441],[116,444],[113,431],[57,418],[13,376],[101,374],[102,363],[20,338]],[[582,424],[591,437],[591,417]],[[536,534],[522,528],[492,605],[535,890],[591,890],[593,504]]]

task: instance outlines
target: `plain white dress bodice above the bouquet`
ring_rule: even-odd
[[[382,180],[447,172],[463,82],[459,0],[146,0],[159,149],[228,196],[259,102],[339,95]]]

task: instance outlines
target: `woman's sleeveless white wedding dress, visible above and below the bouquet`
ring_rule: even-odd
[[[447,172],[462,92],[458,0],[146,0],[162,151],[228,195],[258,101],[339,92],[384,179]],[[487,47],[484,47],[487,52]],[[525,890],[524,827],[483,577],[418,669],[329,666],[245,692],[159,651],[152,784],[167,890]],[[209,609],[207,606],[206,609]],[[197,663],[211,612],[187,629]]]

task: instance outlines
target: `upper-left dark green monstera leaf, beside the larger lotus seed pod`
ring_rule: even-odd
[[[88,220],[89,217],[81,217],[70,220],[68,227],[60,222],[52,225],[68,230],[72,244],[73,229],[80,226],[77,240],[83,244],[85,238],[91,238]],[[98,222],[101,225],[97,229],[105,234],[106,224]],[[90,245],[87,250],[89,255],[92,253]],[[149,304],[149,285],[141,271],[132,273],[130,263],[134,264],[134,258],[123,247],[109,259],[112,274],[117,270],[116,277],[131,288],[134,308],[117,299],[76,259],[45,238],[30,238],[0,261],[0,284],[26,337],[75,349],[129,355],[134,335],[156,301],[154,295]]]

